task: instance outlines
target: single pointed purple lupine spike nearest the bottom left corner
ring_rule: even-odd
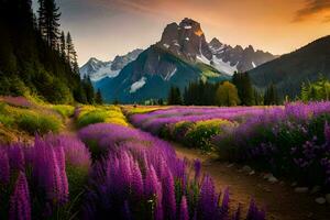
[[[13,195],[10,198],[9,220],[30,220],[31,201],[25,174],[20,172]]]

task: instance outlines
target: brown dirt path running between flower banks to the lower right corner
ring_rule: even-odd
[[[271,184],[260,174],[249,175],[242,167],[216,161],[215,156],[173,143],[179,157],[199,158],[204,172],[210,174],[219,190],[229,187],[231,202],[241,202],[246,211],[251,196],[265,207],[267,219],[273,220],[330,220],[330,206],[315,202],[316,196],[297,194],[289,184]]]

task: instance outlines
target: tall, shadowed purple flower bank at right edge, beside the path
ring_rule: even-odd
[[[330,102],[267,109],[213,138],[219,155],[330,189]]]

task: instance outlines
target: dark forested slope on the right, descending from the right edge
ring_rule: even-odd
[[[256,87],[264,89],[273,82],[282,96],[295,97],[300,91],[301,82],[315,81],[320,74],[330,78],[330,36],[319,38],[249,73]]]

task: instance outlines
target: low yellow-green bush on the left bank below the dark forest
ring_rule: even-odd
[[[37,113],[23,113],[18,118],[19,129],[33,135],[35,133],[46,134],[48,132],[57,133],[62,122],[53,116],[42,116]]]

